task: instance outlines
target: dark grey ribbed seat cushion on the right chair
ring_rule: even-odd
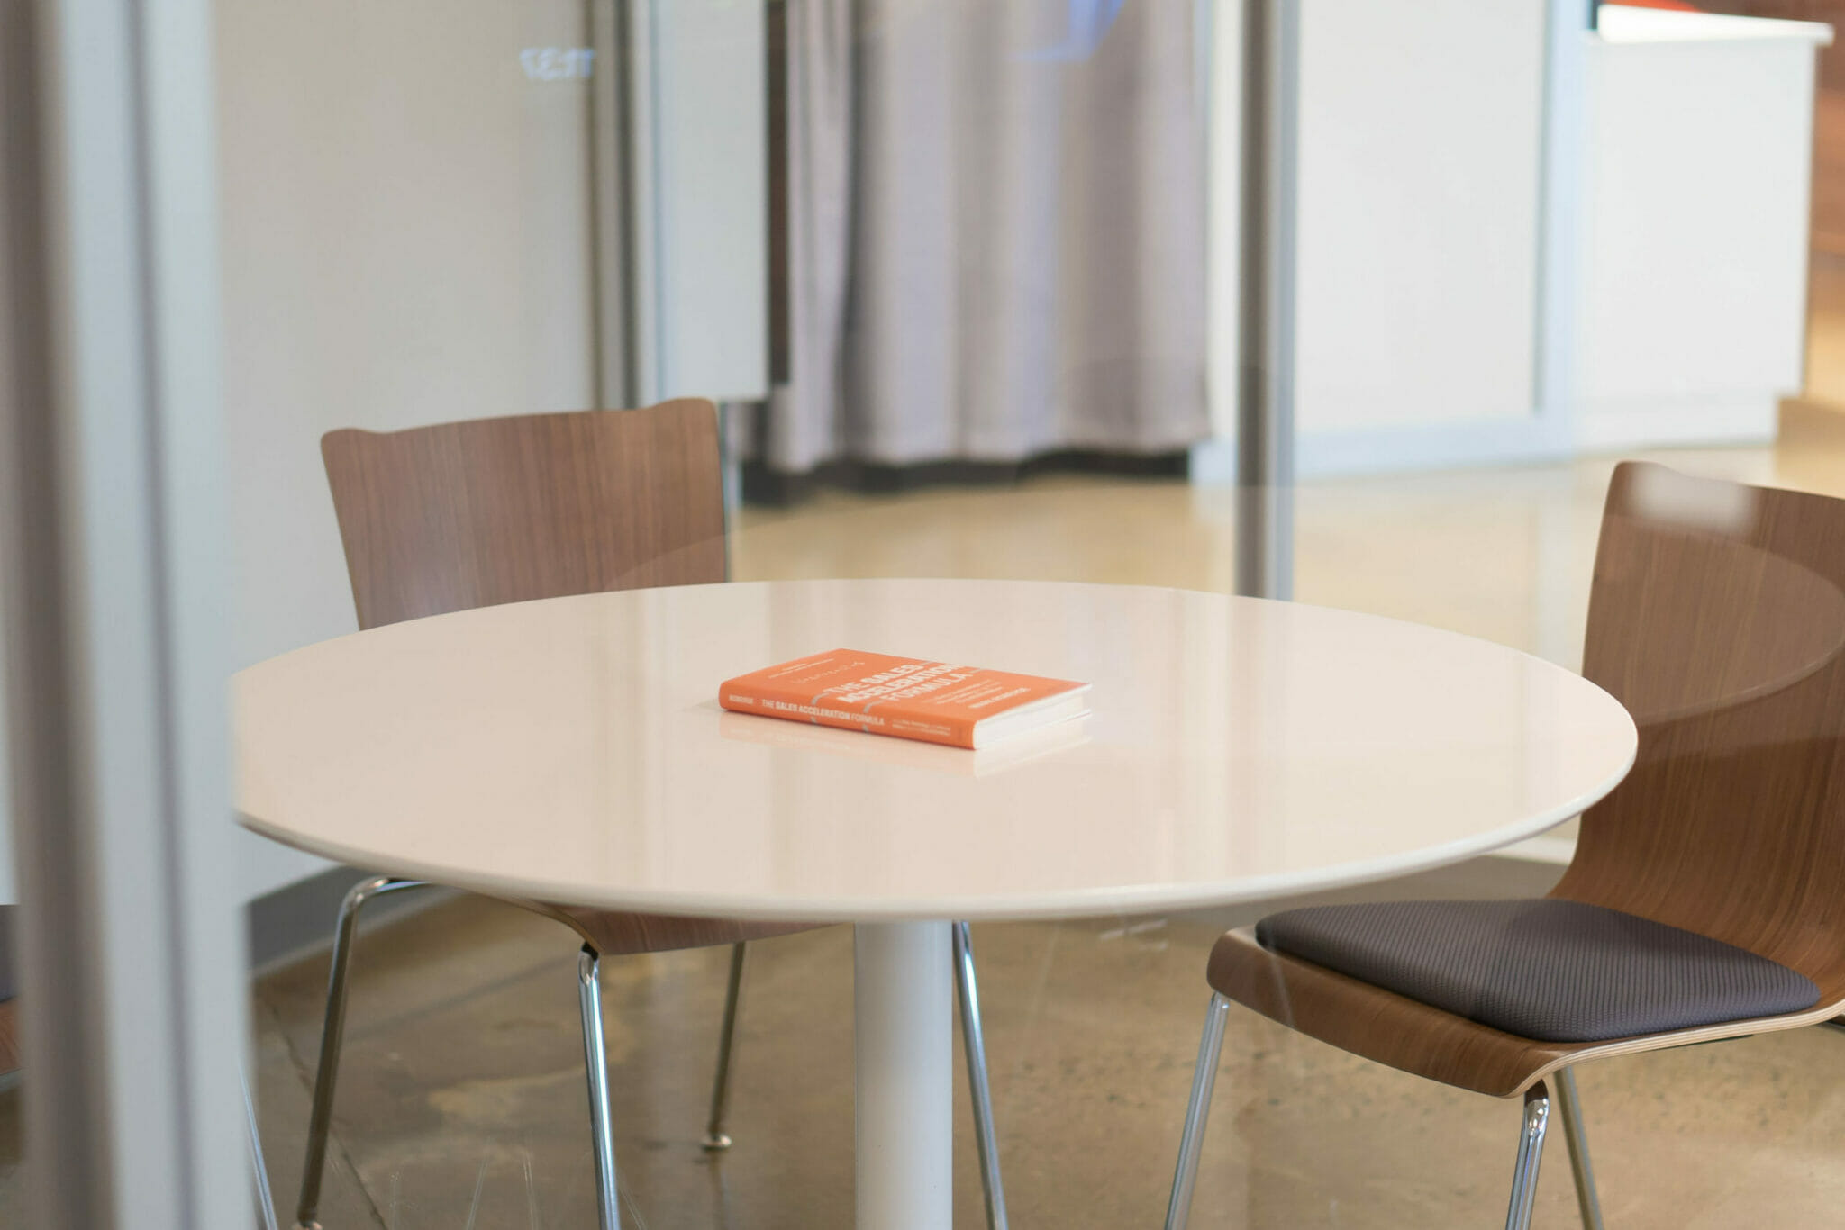
[[[1819,1003],[1810,979],[1768,957],[1552,898],[1314,905],[1264,918],[1256,939],[1542,1042],[1601,1042]]]

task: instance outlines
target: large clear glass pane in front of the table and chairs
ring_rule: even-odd
[[[624,1224],[996,1224],[994,1156],[1020,1221],[1148,1223],[1216,990],[1197,1223],[1517,1224],[1487,1095],[1581,1136],[1587,1040],[1476,966],[1581,1007],[1574,904],[1845,1001],[1836,11],[218,6],[284,1223],[613,1221],[596,1053]],[[1253,494],[1295,603],[1232,597]],[[782,660],[845,671],[771,697],[815,721],[723,712]],[[1020,695],[1087,714],[1002,738]],[[1782,1169],[1845,1059],[1734,1033],[1585,1064],[1624,1215],[1827,1221]]]

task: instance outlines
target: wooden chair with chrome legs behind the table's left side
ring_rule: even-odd
[[[360,627],[537,597],[725,579],[718,417],[705,400],[450,422],[391,433],[328,432],[321,439],[321,455]],[[354,885],[339,907],[295,1213],[297,1226],[304,1230],[317,1224],[314,1217],[327,1160],[358,913],[384,893],[413,887],[421,881],[375,876]],[[732,944],[705,1134],[707,1149],[727,1149],[731,1140],[723,1132],[723,1116],[745,942],[803,931],[810,924],[638,915],[565,902],[515,904],[563,922],[583,940],[577,990],[596,1195],[603,1228],[614,1230],[620,1215],[601,1046],[600,957]],[[954,939],[987,1219],[1004,1230],[1006,1202],[965,924],[954,928]]]

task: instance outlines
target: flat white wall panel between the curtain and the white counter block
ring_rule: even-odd
[[[1301,6],[1304,457],[1315,435],[1533,413],[1546,15],[1546,0]],[[1208,225],[1220,435],[1234,432],[1240,28],[1240,0],[1218,0]]]

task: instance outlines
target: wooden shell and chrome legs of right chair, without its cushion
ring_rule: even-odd
[[[1526,1230],[1552,1095],[1583,1226],[1601,1208],[1574,1066],[1834,1023],[1845,1011],[1845,500],[1622,463],[1609,485],[1583,675],[1635,716],[1629,776],[1581,821],[1550,896],[1744,948],[1819,987],[1812,1009],[1609,1042],[1539,1042],[1271,952],[1253,928],[1212,987],[1168,1230],[1186,1224],[1223,1044],[1242,1003],[1343,1051],[1524,1097],[1507,1230]],[[1771,822],[1766,822],[1771,821]]]

